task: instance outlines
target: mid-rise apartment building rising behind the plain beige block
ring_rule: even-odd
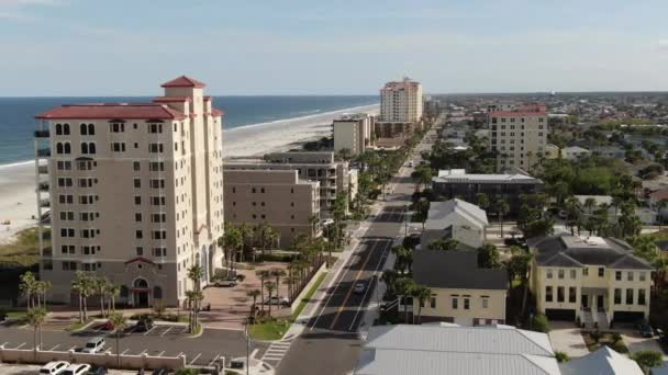
[[[336,194],[345,192],[350,202],[357,193],[357,170],[349,169],[346,161],[337,161],[332,151],[274,152],[263,159],[235,159],[225,161],[225,170],[297,170],[302,180],[320,182],[321,218],[331,216]]]

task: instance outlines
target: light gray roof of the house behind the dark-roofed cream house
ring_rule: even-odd
[[[465,218],[478,228],[485,228],[489,225],[485,209],[466,201],[454,198],[446,202],[430,203],[424,228],[443,229],[456,223],[458,217]]]

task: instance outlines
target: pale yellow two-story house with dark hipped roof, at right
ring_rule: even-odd
[[[649,315],[653,268],[615,238],[556,236],[528,240],[530,286],[538,312],[608,328]]]

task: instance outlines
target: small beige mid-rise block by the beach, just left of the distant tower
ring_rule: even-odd
[[[350,155],[364,154],[374,146],[376,117],[366,113],[346,114],[332,123],[334,151],[348,149]]]

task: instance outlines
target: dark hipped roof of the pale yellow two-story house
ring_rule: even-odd
[[[633,255],[633,248],[615,238],[552,236],[532,238],[527,245],[536,249],[536,262],[543,266],[581,266],[584,264],[605,265],[621,270],[652,270],[646,261]],[[565,254],[572,259],[555,258]],[[580,263],[580,265],[577,265]],[[572,264],[572,265],[558,265]]]

